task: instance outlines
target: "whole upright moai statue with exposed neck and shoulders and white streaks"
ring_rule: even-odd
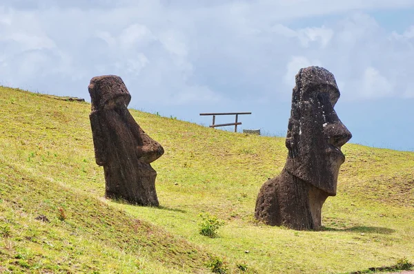
[[[255,218],[297,230],[321,227],[321,210],[335,196],[341,147],[351,132],[333,107],[339,98],[335,77],[323,67],[306,67],[296,75],[286,147],[288,158],[279,176],[264,183]]]

